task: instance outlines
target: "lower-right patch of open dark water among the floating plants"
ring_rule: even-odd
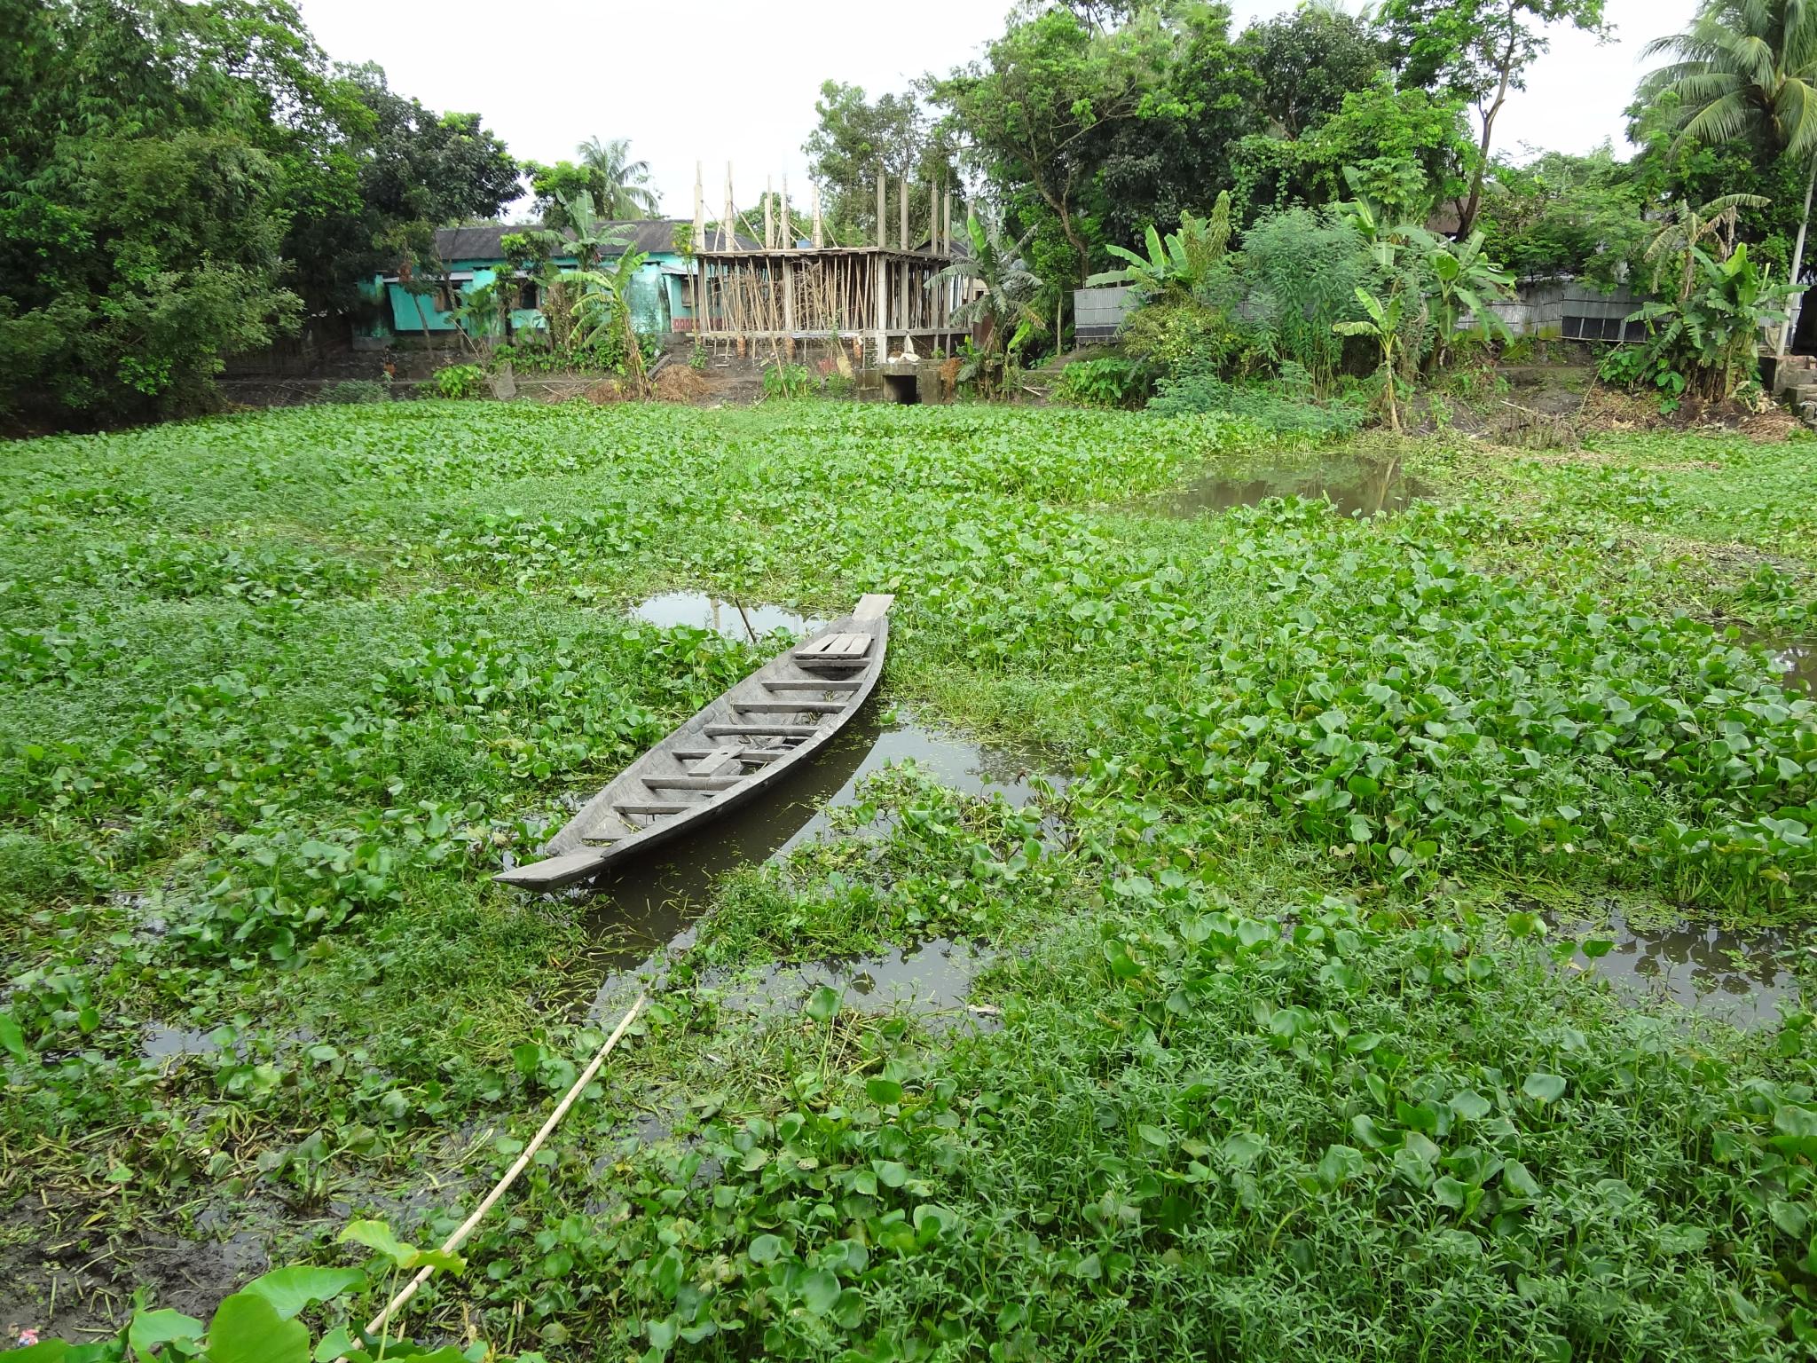
[[[1610,914],[1606,927],[1568,930],[1581,938],[1613,940],[1613,949],[1590,961],[1590,969],[1621,992],[1670,1000],[1735,1027],[1775,1021],[1779,1000],[1799,992],[1786,960],[1806,947],[1788,929],[1730,932],[1701,923],[1633,929],[1617,912]]]

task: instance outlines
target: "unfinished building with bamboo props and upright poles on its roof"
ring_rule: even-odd
[[[732,180],[727,171],[725,214],[709,233],[700,178],[694,182],[694,334],[754,358],[807,358],[834,345],[858,363],[899,354],[952,354],[968,334],[954,309],[970,296],[967,280],[939,280],[952,262],[952,194],[928,194],[927,240],[908,242],[908,184],[898,182],[896,242],[890,244],[885,184],[878,178],[878,240],[872,245],[825,245],[819,189],[812,191],[812,225],[796,236],[783,194],[763,196],[763,247],[736,236]],[[752,224],[754,229],[754,224]],[[752,231],[752,236],[756,233]]]

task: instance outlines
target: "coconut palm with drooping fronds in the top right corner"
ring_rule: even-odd
[[[1773,156],[1810,160],[1792,282],[1817,191],[1817,7],[1808,0],[1706,0],[1690,29],[1655,38],[1646,56],[1677,58],[1641,82],[1643,98],[1679,98],[1673,149],[1744,138]],[[1779,333],[1786,353],[1792,322]]]

